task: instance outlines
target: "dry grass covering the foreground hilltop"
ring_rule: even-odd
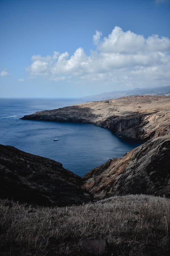
[[[129,195],[62,208],[0,201],[0,255],[5,256],[81,255],[81,238],[106,239],[113,255],[166,255],[158,245],[168,231],[166,198]],[[122,242],[131,245],[130,252],[124,249],[128,254],[116,251]]]

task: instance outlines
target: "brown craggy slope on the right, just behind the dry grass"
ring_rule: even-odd
[[[148,194],[170,197],[170,136],[159,137],[109,160],[83,177],[96,199]]]

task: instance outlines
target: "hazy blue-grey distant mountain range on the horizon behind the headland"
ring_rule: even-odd
[[[170,95],[170,86],[155,87],[155,88],[135,88],[124,91],[111,91],[110,93],[101,93],[97,95],[85,96],[82,98],[90,98],[94,100],[108,100],[131,95]]]

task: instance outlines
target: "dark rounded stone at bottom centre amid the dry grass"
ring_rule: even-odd
[[[79,246],[84,256],[107,255],[108,245],[104,239],[92,240],[89,238],[82,238],[79,240]]]

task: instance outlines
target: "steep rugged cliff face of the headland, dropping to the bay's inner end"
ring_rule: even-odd
[[[162,110],[109,117],[102,126],[121,137],[148,140],[170,134],[170,114]]]

